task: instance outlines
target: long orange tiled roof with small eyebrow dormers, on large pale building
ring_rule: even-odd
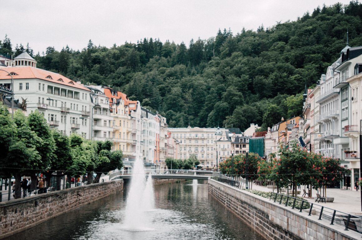
[[[68,87],[75,87],[78,89],[82,89],[85,91],[90,91],[87,87],[84,87],[80,85],[79,83],[76,83],[75,81],[64,77],[63,75],[59,73],[53,73],[47,70],[43,70],[40,68],[34,68],[30,66],[19,66],[19,67],[6,67],[3,68],[4,70],[8,71],[9,73],[16,73],[13,76],[13,79],[30,79],[30,78],[38,78],[41,80],[45,80],[48,82],[57,83],[60,85],[65,85]],[[51,78],[50,78],[50,77]],[[9,79],[10,76],[8,73],[4,71],[0,71],[0,80]],[[58,81],[61,79],[62,81]]]

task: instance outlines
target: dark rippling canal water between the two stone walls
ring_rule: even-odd
[[[6,239],[263,239],[209,197],[207,185],[200,183],[155,186],[156,209],[146,213],[152,218],[148,231],[122,228],[126,193],[119,193]]]

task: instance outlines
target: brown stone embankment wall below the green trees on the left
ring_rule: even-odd
[[[122,190],[119,179],[1,202],[0,239]]]

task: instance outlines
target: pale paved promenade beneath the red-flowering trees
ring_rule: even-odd
[[[254,185],[254,190],[260,190],[264,192],[272,192],[273,189]],[[298,196],[301,197],[303,194],[304,186],[300,186],[301,194]],[[306,188],[307,189],[307,188]],[[298,189],[299,190],[299,189]],[[277,189],[274,189],[274,192],[277,192]],[[284,193],[284,192],[283,192]],[[315,203],[314,197],[316,197],[317,191],[312,189],[312,197],[313,198],[305,198],[309,202]],[[285,194],[285,193],[284,193]],[[362,215],[362,209],[361,209],[361,192],[356,190],[342,190],[337,188],[327,188],[327,197],[334,197],[333,202],[327,202],[322,203],[320,201],[317,203],[318,205],[329,207],[331,209],[335,209],[337,211],[341,211],[344,213],[352,213],[352,214],[361,214]]]

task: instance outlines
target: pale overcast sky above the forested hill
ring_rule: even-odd
[[[348,4],[350,0],[339,0]],[[94,44],[136,43],[159,38],[188,46],[191,38],[214,37],[218,29],[236,34],[243,27],[295,21],[318,5],[337,0],[12,0],[1,3],[0,39],[5,34],[13,47],[22,43],[42,53],[48,46],[73,50]]]

